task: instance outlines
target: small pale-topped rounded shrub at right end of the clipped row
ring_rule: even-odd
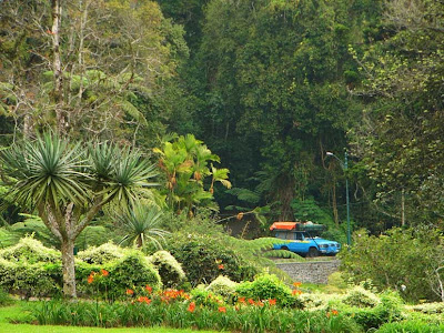
[[[181,264],[168,251],[158,251],[149,256],[165,287],[175,287],[185,280]]]

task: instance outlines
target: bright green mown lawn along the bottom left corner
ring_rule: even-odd
[[[30,324],[11,324],[9,319],[24,319],[26,310],[20,303],[11,306],[0,307],[0,333],[191,333],[195,330],[179,330],[171,327],[121,327],[121,329],[99,329],[99,327],[80,327],[80,326],[52,326],[52,325],[30,325]],[[216,331],[199,331],[202,333],[213,333]]]

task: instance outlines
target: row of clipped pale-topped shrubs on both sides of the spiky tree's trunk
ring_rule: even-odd
[[[105,261],[111,252],[112,260]],[[0,254],[0,287],[26,299],[60,295],[62,268],[58,251],[27,238]],[[78,291],[83,296],[114,300],[127,289],[150,285],[155,290],[162,286],[162,280],[173,286],[184,279],[180,264],[165,252],[147,258],[138,251],[104,244],[80,253],[79,259],[87,261],[75,262]],[[107,279],[91,281],[103,275],[102,272]]]

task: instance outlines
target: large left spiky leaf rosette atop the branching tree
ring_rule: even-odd
[[[11,184],[8,193],[19,205],[29,208],[67,202],[82,205],[88,199],[89,167],[79,144],[71,145],[46,133],[0,152],[2,173]]]

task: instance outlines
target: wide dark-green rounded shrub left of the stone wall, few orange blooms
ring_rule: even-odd
[[[174,234],[168,242],[170,253],[182,263],[192,285],[208,284],[220,274],[233,281],[250,280],[258,270],[215,238]]]

